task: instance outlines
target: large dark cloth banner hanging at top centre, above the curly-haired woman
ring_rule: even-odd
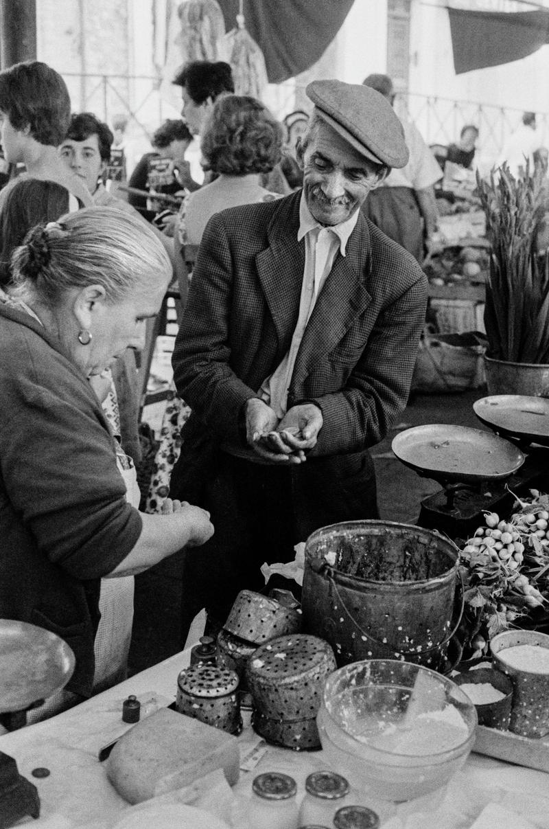
[[[227,32],[238,0],[218,0]],[[245,26],[265,57],[270,83],[309,69],[340,31],[354,0],[245,0]]]

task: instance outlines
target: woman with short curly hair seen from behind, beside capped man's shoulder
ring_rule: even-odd
[[[200,148],[206,169],[217,178],[185,196],[176,228],[176,260],[182,259],[185,245],[200,244],[205,226],[214,213],[226,207],[279,198],[278,193],[262,187],[261,177],[280,161],[282,136],[282,125],[261,101],[248,95],[223,95],[215,101],[205,120]],[[185,284],[182,284],[183,300],[184,293]],[[181,448],[181,428],[188,415],[188,407],[177,397],[172,385],[147,510],[160,509],[168,494],[171,470]]]

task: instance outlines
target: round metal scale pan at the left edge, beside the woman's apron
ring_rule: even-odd
[[[75,655],[55,633],[0,619],[0,714],[24,711],[65,687]]]

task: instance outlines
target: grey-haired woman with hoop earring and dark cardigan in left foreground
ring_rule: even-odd
[[[135,245],[139,238],[140,244]],[[86,208],[35,228],[0,301],[0,617],[58,633],[76,657],[58,707],[94,691],[99,589],[213,532],[207,512],[127,501],[117,447],[89,378],[161,305],[171,267],[134,216]]]

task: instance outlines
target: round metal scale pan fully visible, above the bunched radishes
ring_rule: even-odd
[[[496,434],[449,424],[406,429],[393,438],[392,451],[418,475],[445,487],[509,478],[525,459],[518,447]]]

